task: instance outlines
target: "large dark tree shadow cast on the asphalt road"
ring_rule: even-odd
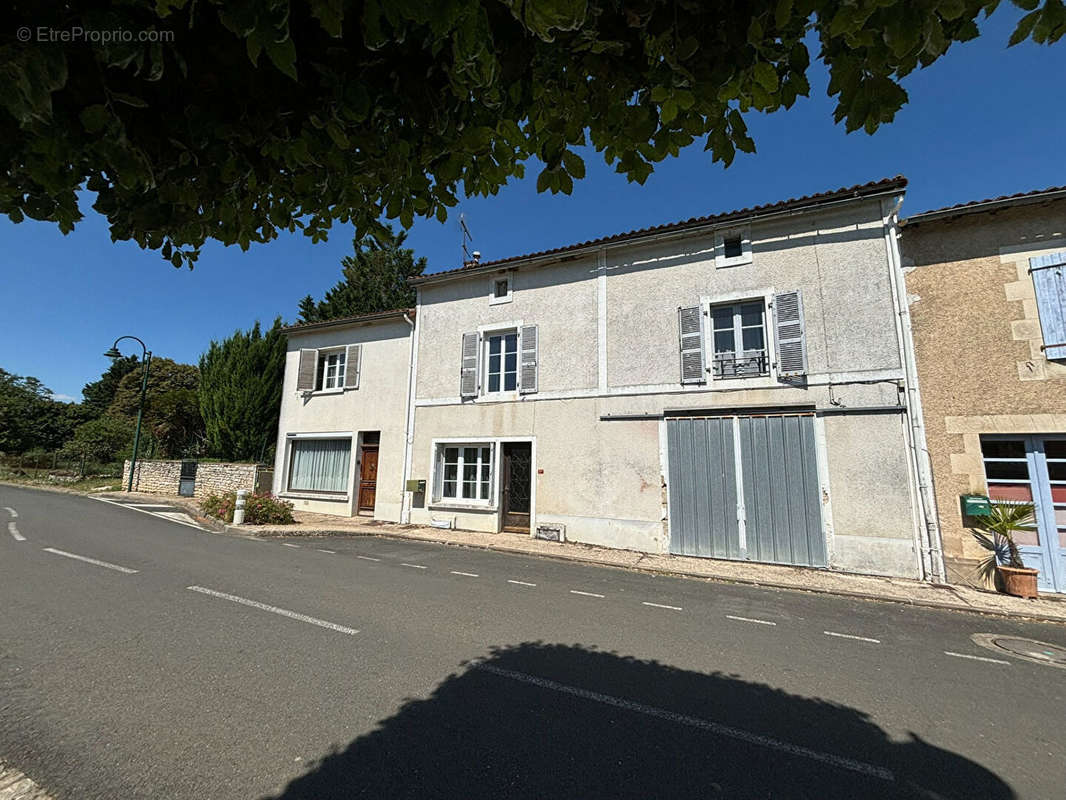
[[[1013,798],[855,708],[722,673],[526,643],[465,665],[274,800]]]

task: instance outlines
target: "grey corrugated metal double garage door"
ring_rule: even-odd
[[[811,414],[666,420],[671,553],[825,566]]]

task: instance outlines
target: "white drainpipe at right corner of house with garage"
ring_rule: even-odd
[[[918,487],[921,525],[919,525],[919,564],[922,580],[931,583],[944,582],[943,544],[940,538],[940,521],[937,515],[936,495],[933,492],[933,466],[930,463],[928,446],[925,441],[925,422],[922,413],[922,398],[918,388],[918,365],[915,357],[914,332],[910,325],[910,304],[903,276],[900,256],[899,210],[903,195],[895,197],[890,208],[883,201],[885,211],[885,243],[888,247],[889,276],[892,282],[892,300],[895,306],[903,357],[903,385],[907,396],[907,419],[910,425],[909,449],[911,467]]]

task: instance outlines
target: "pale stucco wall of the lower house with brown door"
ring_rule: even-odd
[[[301,348],[361,345],[359,387],[340,394],[316,393],[304,398],[296,390]],[[399,321],[290,333],[281,390],[274,492],[297,511],[317,511],[351,516],[358,490],[358,434],[379,431],[377,494],[374,517],[399,521],[403,505],[403,460],[410,366],[410,325]],[[349,492],[338,499],[312,498],[289,493],[288,434],[351,434],[352,459]]]

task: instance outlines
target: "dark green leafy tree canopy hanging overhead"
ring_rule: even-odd
[[[1061,0],[1011,43],[1066,32]],[[115,240],[192,265],[208,239],[356,238],[445,220],[533,157],[569,192],[592,145],[631,180],[697,140],[753,151],[744,113],[808,94],[813,31],[847,130],[978,35],[998,0],[70,0],[16,6],[0,45],[0,211],[68,231],[96,194]],[[21,15],[21,19],[19,19]],[[54,32],[129,32],[110,42]],[[145,33],[147,32],[147,33]],[[152,32],[162,32],[162,36]],[[44,38],[42,38],[44,34]],[[173,34],[173,35],[172,35]],[[10,34],[9,34],[10,35]],[[25,38],[28,41],[18,41]]]

